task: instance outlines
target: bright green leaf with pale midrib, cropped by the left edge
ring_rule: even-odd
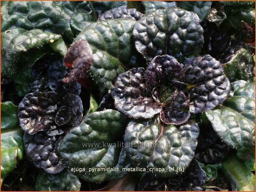
[[[23,131],[19,127],[17,106],[1,103],[1,184],[23,156]]]

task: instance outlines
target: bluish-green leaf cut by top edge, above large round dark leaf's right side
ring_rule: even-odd
[[[206,17],[210,11],[212,2],[211,1],[181,1],[180,7],[187,11],[193,11],[198,14],[200,21]]]

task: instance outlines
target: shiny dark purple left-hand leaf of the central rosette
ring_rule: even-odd
[[[117,77],[111,94],[118,111],[133,118],[146,119],[161,111],[161,107],[146,95],[144,76],[144,68],[133,68]]]

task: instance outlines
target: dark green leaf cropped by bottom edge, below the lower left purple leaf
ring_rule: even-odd
[[[36,180],[39,191],[80,191],[81,183],[70,170],[64,169],[57,174],[40,171]]]

